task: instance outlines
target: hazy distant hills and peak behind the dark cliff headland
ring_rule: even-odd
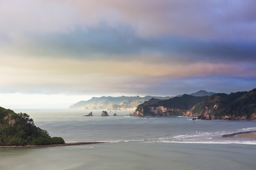
[[[196,93],[192,93],[190,95],[193,96],[209,96],[214,94],[213,92],[207,91],[198,91]],[[181,95],[182,96],[182,95]],[[155,99],[171,99],[174,96],[121,96],[121,97],[92,97],[90,100],[80,101],[76,104],[71,105],[70,109],[108,109],[108,110],[135,110],[139,104],[144,103],[152,98]]]

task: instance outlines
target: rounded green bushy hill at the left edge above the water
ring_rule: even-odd
[[[46,130],[35,126],[26,113],[0,107],[0,146],[64,144],[61,137],[50,137]]]

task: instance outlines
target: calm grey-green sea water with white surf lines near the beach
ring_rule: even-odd
[[[0,170],[255,170],[256,121],[130,117],[133,110],[13,110],[65,142],[103,144],[0,149]],[[93,116],[85,117],[92,112]],[[113,116],[116,113],[117,116]]]

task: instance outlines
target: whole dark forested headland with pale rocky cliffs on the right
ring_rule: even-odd
[[[215,93],[195,97],[183,95],[168,100],[150,99],[140,104],[133,116],[189,116],[198,119],[256,119],[256,88],[229,95]]]

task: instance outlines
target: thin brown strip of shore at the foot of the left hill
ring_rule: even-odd
[[[106,142],[67,142],[65,144],[53,144],[53,145],[0,146],[0,149],[45,148],[45,147],[55,147],[55,146],[90,145],[90,144],[103,144],[103,143],[106,143]]]

